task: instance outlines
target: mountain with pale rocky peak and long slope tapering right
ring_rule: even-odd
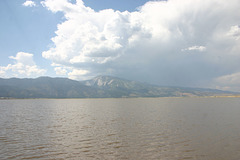
[[[232,92],[215,89],[160,87],[111,76],[98,76],[82,83],[94,88],[107,90],[113,97],[182,97],[233,94]]]

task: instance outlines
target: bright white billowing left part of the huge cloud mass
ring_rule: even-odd
[[[103,64],[118,58],[129,41],[149,35],[137,24],[138,15],[129,12],[95,12],[81,1],[76,5],[66,0],[42,4],[53,12],[64,12],[68,19],[58,25],[57,36],[52,39],[56,47],[43,52],[43,57],[56,62]]]

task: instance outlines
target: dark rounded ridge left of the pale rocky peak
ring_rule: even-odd
[[[98,90],[67,78],[0,79],[0,97],[88,98]]]

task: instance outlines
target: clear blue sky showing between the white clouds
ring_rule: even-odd
[[[0,1],[0,65],[6,66],[12,62],[10,56],[18,52],[34,54],[36,63],[47,68],[48,76],[57,76],[51,62],[42,58],[42,52],[52,45],[51,38],[57,30],[57,24],[64,21],[63,14],[52,13],[44,8],[41,0],[32,1],[34,6],[24,6],[26,0]],[[76,3],[76,1],[71,1]],[[86,6],[96,11],[112,8],[119,11],[134,11],[145,4],[147,0],[85,0]],[[4,75],[1,75],[4,77]],[[17,75],[16,75],[17,76]],[[7,76],[8,77],[8,76]],[[11,76],[10,76],[11,77]],[[26,75],[22,75],[26,77]]]

